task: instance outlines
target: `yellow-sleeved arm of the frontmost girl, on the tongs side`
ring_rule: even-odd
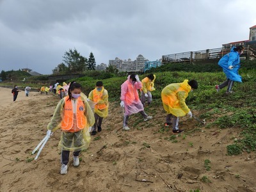
[[[63,111],[63,106],[65,103],[65,98],[61,99],[60,102],[57,104],[53,116],[51,118],[51,122],[47,125],[47,129],[51,130],[52,132],[56,131],[57,129],[60,128],[61,124],[61,113]]]

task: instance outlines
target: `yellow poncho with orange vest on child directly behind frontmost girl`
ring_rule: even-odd
[[[108,116],[108,91],[102,87],[102,90],[99,92],[97,88],[92,90],[89,93],[88,99],[92,100],[95,104],[94,113],[97,113],[101,117]]]

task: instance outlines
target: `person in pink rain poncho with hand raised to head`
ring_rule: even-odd
[[[141,82],[138,75],[131,74],[127,80],[121,85],[121,102],[120,106],[124,109],[123,129],[129,131],[127,126],[129,116],[135,113],[140,113],[144,121],[150,120],[153,117],[148,116],[143,108],[143,104],[139,99],[138,90],[141,89]]]

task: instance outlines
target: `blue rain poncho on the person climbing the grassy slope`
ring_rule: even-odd
[[[225,54],[223,58],[220,59],[218,65],[223,68],[223,72],[226,74],[227,79],[232,81],[242,82],[242,77],[239,76],[238,70],[240,68],[240,56],[237,51],[234,51],[235,47],[232,47],[228,54]],[[234,68],[231,70],[228,67],[232,65]]]

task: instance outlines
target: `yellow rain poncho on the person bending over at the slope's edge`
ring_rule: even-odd
[[[190,111],[185,102],[190,91],[188,79],[183,83],[172,83],[166,86],[161,93],[164,110],[168,114],[185,116]]]

